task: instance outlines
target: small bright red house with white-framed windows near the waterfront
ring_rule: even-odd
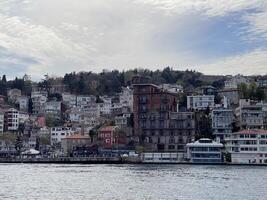
[[[98,138],[100,138],[103,142],[103,147],[106,149],[111,149],[114,145],[118,144],[117,143],[117,133],[116,131],[118,130],[117,126],[106,126],[102,127],[99,130],[98,133]]]

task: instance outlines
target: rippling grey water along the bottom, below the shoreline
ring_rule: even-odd
[[[0,199],[265,200],[267,168],[1,164]]]

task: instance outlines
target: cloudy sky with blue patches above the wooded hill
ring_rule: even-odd
[[[0,70],[267,73],[266,0],[0,0]]]

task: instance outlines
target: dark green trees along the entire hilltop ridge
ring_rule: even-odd
[[[14,80],[6,80],[6,76],[0,77],[0,94],[6,95],[8,89],[18,88],[22,94],[30,95],[33,85],[45,88],[49,91],[52,85],[66,85],[68,92],[74,94],[113,95],[120,92],[122,86],[131,85],[132,77],[135,75],[150,77],[154,84],[177,83],[181,84],[186,91],[195,90],[204,85],[212,85],[218,89],[224,86],[227,76],[204,75],[200,72],[186,70],[178,71],[170,67],[163,70],[152,71],[149,69],[133,69],[127,71],[103,70],[101,73],[94,72],[72,72],[66,73],[64,77],[50,77],[45,75],[39,82],[32,82],[25,75]],[[251,80],[256,77],[249,77]]]

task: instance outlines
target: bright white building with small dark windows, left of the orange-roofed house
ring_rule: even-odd
[[[51,145],[60,144],[62,138],[73,135],[76,129],[69,127],[52,127],[51,128]]]

